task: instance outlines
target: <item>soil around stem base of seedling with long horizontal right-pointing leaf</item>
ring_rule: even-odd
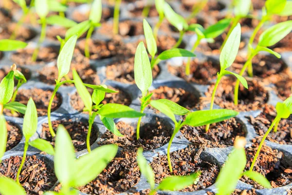
[[[219,167],[211,162],[206,162],[200,158],[201,150],[190,145],[185,149],[170,153],[170,159],[174,175],[185,176],[201,171],[201,176],[197,184],[186,187],[182,192],[194,192],[205,189],[215,183],[219,174]],[[150,163],[154,173],[155,182],[160,183],[164,177],[170,176],[166,155],[159,155],[153,158]]]

